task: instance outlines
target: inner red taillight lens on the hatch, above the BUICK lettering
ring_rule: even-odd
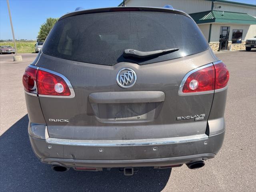
[[[70,90],[66,82],[59,76],[38,70],[37,90],[41,95],[69,96]]]

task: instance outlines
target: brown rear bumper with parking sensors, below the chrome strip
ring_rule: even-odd
[[[141,142],[133,145],[77,145],[60,142],[57,144],[30,136],[34,153],[44,163],[104,168],[166,166],[208,160],[214,158],[223,140],[224,132],[184,142],[174,140],[166,143]]]

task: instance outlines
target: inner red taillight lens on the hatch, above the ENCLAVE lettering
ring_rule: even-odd
[[[214,83],[214,66],[209,66],[190,74],[183,86],[182,92],[191,93],[214,90]]]

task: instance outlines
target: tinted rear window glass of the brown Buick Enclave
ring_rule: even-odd
[[[140,51],[179,48],[150,58],[124,57],[125,49]],[[44,42],[45,54],[114,65],[117,62],[149,64],[202,52],[204,36],[187,16],[165,12],[102,12],[70,16],[58,21]]]

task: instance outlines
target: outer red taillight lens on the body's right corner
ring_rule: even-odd
[[[227,86],[229,80],[229,72],[226,65],[221,62],[214,65],[216,72],[215,89],[221,89]]]

